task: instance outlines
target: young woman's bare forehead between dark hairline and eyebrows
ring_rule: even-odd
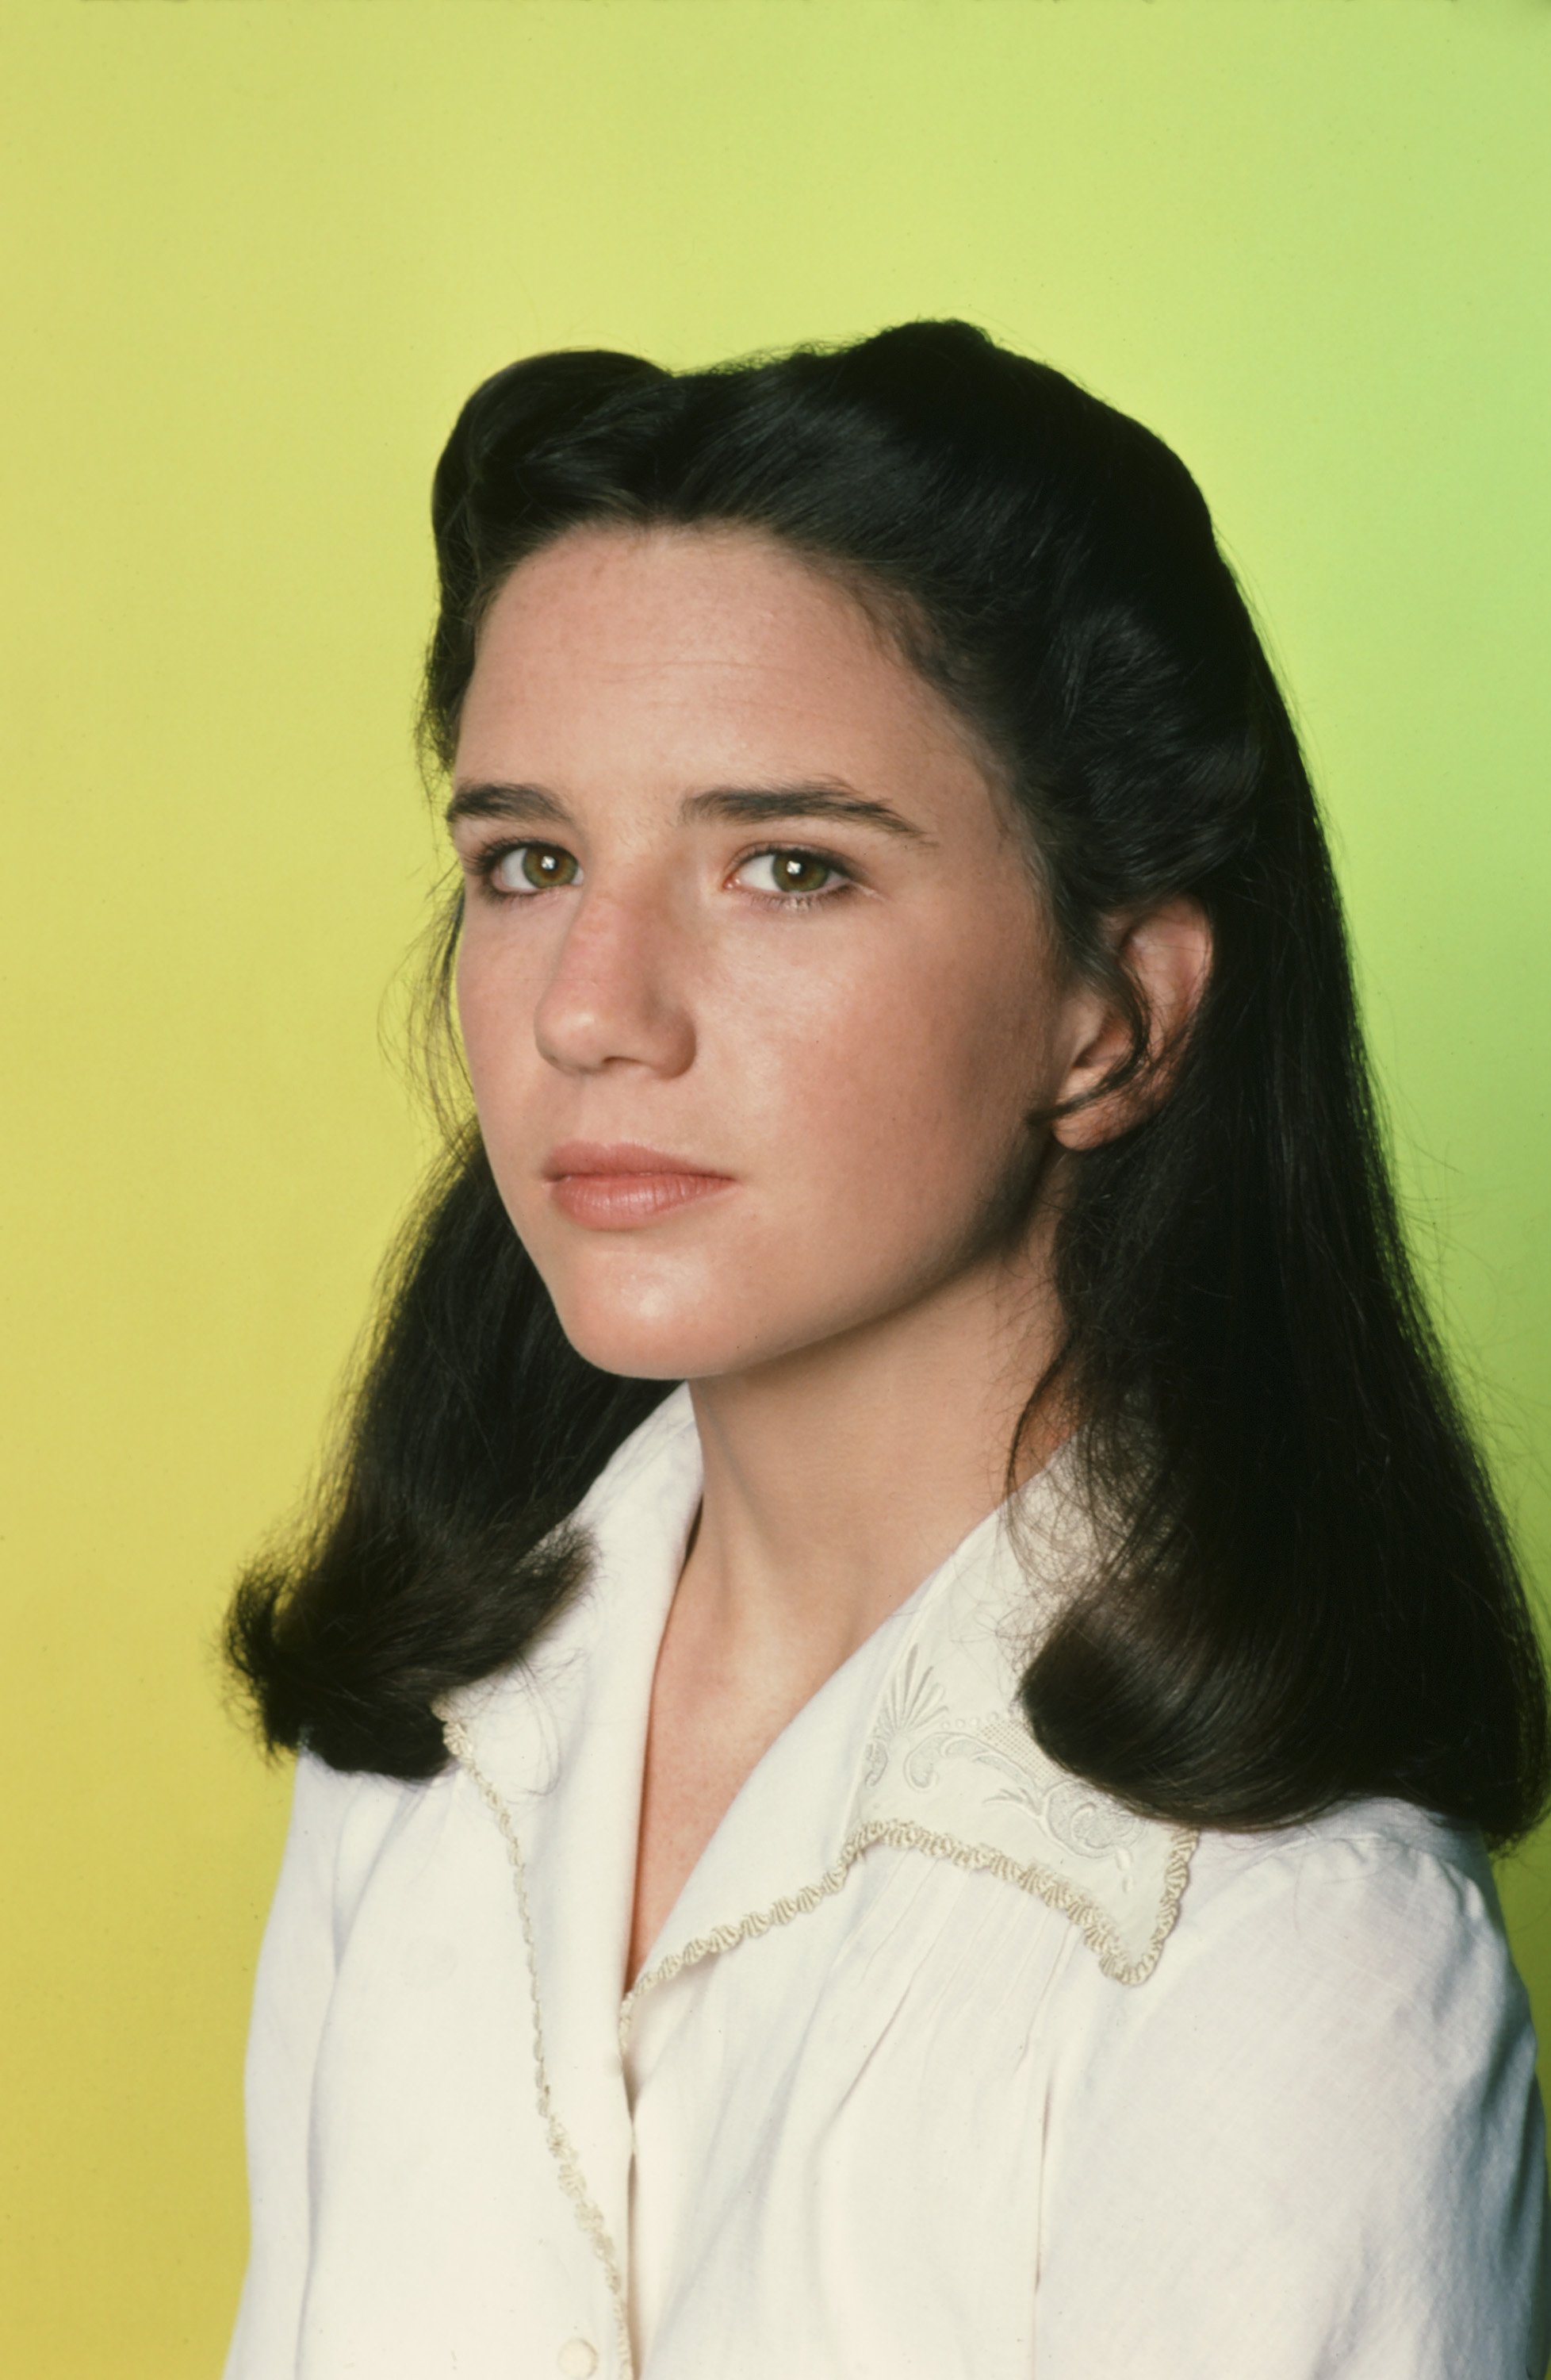
[[[740,526],[580,528],[481,628],[459,774],[630,754],[683,774],[963,766],[966,733],[837,578]]]

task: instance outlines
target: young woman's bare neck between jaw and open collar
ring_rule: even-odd
[[[1030,1254],[821,1347],[690,1383],[704,1499],[678,1599],[740,1666],[811,1690],[1001,1502],[1059,1328]],[[1042,1423],[1016,1478],[1061,1435]]]

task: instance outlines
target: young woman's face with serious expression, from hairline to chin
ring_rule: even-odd
[[[571,531],[488,614],[450,821],[478,1121],[583,1357],[747,1371],[997,1273],[1082,1014],[954,714],[833,581]]]

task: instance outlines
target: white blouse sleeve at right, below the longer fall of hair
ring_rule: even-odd
[[[1534,2033],[1482,1856],[1242,1859],[1090,2049],[1051,2104],[1040,2380],[1544,2380]]]

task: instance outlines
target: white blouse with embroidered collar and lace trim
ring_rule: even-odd
[[[1389,1799],[1197,1837],[1056,1768],[1006,1509],[771,1745],[621,2006],[699,1485],[678,1388],[442,1775],[297,1761],[226,2380],[1541,2380],[1480,1837]]]

